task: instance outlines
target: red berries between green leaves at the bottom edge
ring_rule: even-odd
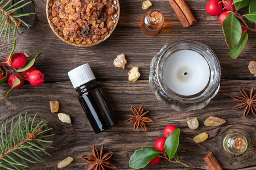
[[[174,125],[168,125],[166,126],[166,128],[164,128],[163,130],[163,134],[165,138],[158,138],[155,140],[155,148],[156,150],[159,150],[161,152],[165,152],[166,150],[164,149],[164,144],[166,143],[166,138],[168,138],[168,136],[177,129],[177,126]],[[152,159],[151,162],[149,162],[148,164],[150,165],[156,165],[160,162],[161,157],[156,156],[156,158]]]

